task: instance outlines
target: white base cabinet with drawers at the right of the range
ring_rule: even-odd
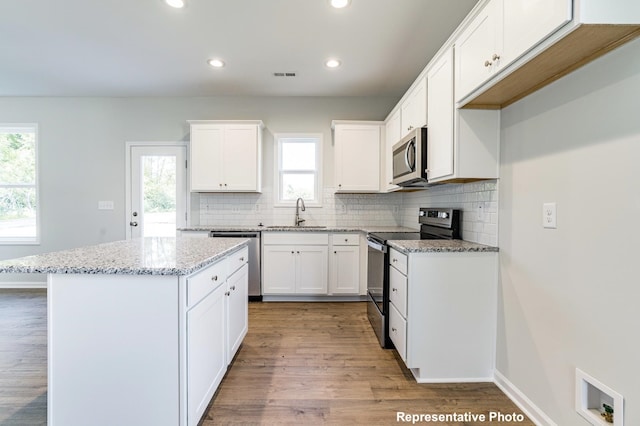
[[[497,253],[392,249],[390,258],[389,335],[416,380],[491,381]]]

